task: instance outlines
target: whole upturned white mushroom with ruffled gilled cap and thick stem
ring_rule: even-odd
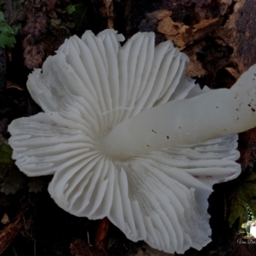
[[[172,42],[122,39],[73,36],[29,76],[44,113],[9,125],[13,158],[28,176],[54,174],[49,193],[67,212],[107,216],[168,253],[200,250],[211,241],[212,184],[241,172],[236,132],[256,123],[256,68],[231,90],[201,90]]]

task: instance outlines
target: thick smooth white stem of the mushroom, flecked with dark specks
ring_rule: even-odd
[[[256,65],[229,89],[167,102],[113,127],[99,147],[113,157],[146,154],[168,146],[203,143],[256,126]]]

